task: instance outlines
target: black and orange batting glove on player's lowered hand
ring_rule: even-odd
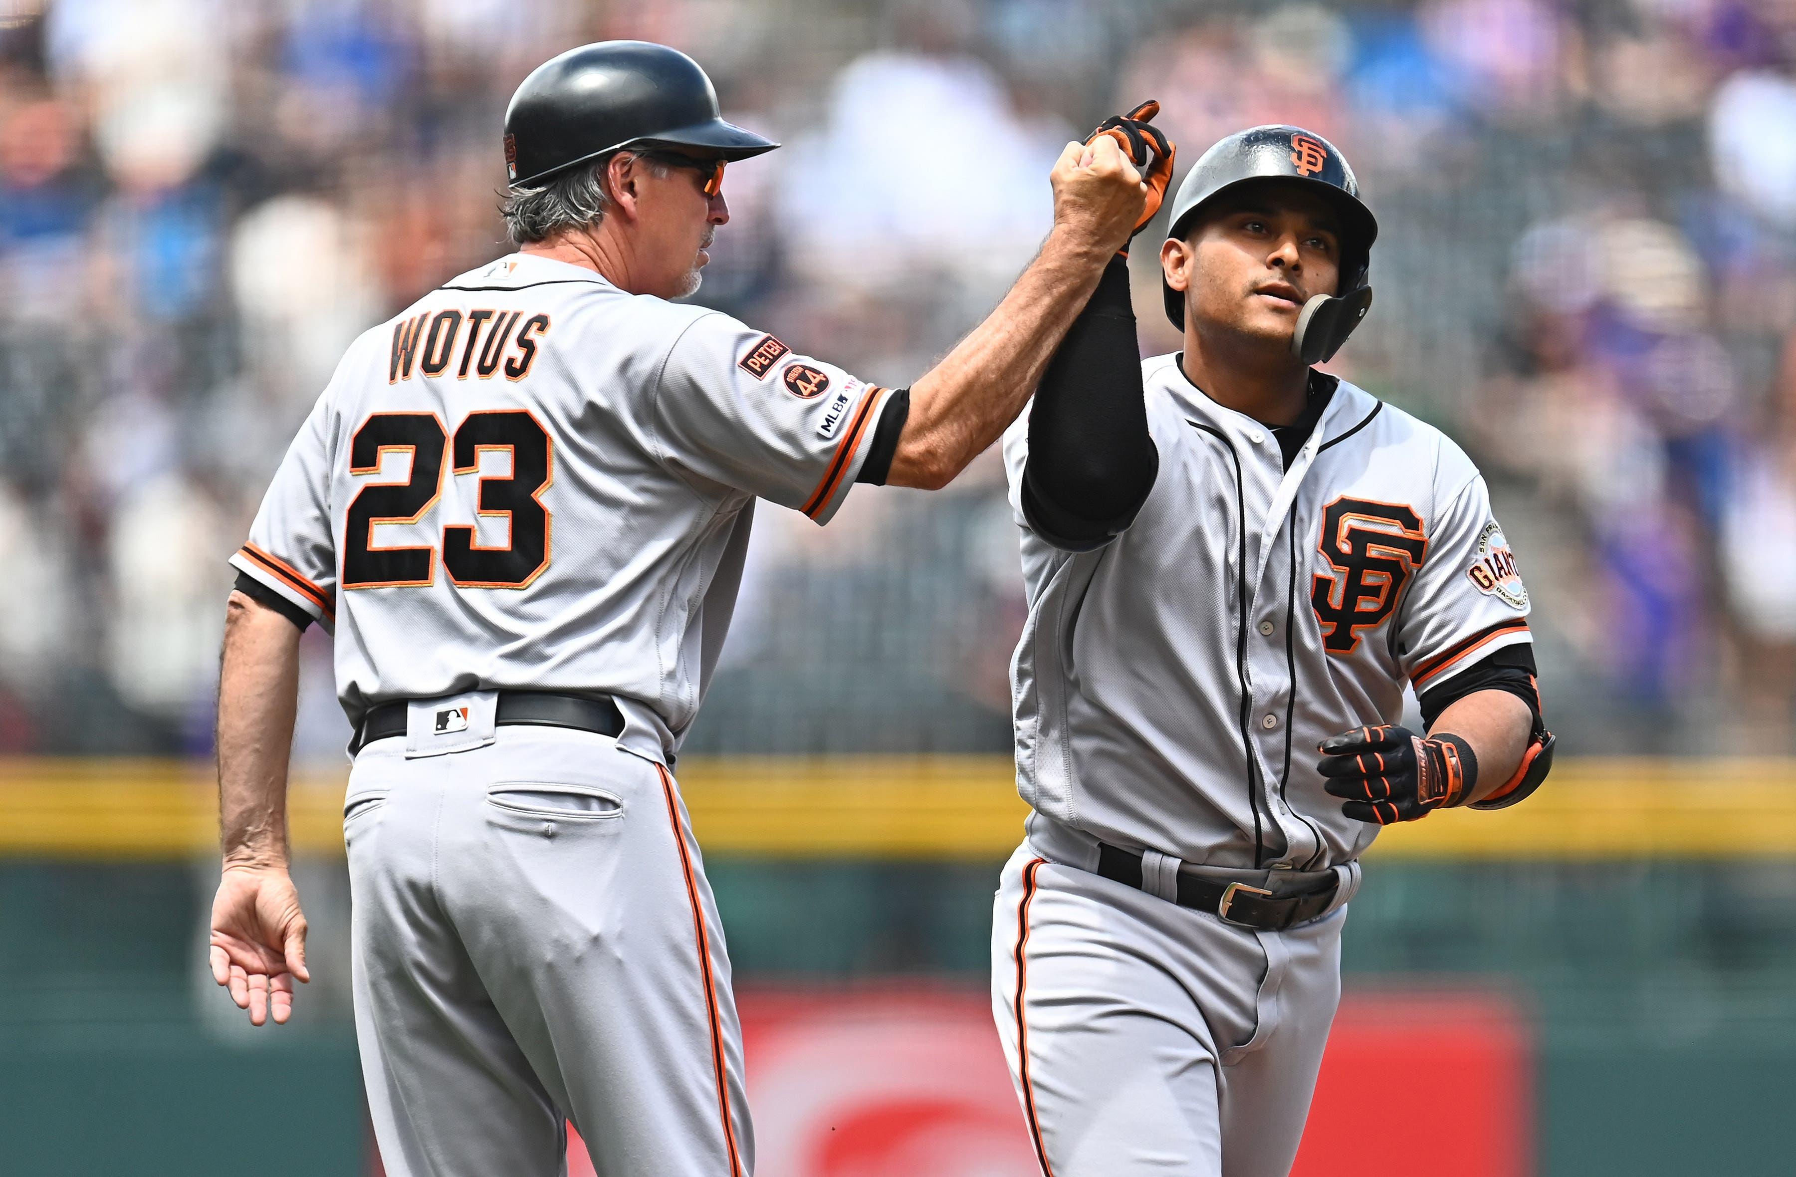
[[[1397,724],[1354,728],[1322,740],[1322,787],[1354,821],[1415,821],[1464,805],[1478,783],[1478,757],[1457,735],[1421,737]]]

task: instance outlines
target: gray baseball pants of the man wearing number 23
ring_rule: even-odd
[[[729,960],[674,778],[609,737],[368,744],[350,773],[356,1033],[388,1177],[749,1177]]]

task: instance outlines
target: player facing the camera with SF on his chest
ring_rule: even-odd
[[[1376,234],[1320,135],[1221,140],[1160,250],[1184,350],[1137,359],[1115,261],[1006,433],[1034,812],[991,1003],[1042,1173],[1290,1172],[1360,855],[1390,821],[1512,805],[1550,765],[1483,480],[1311,367],[1372,302]],[[1404,686],[1426,735],[1397,726]],[[1401,1123],[1457,1098],[1365,1107]]]

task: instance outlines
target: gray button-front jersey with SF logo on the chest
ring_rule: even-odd
[[[1024,518],[1027,417],[1006,433],[1029,620],[1017,778],[1052,827],[1227,868],[1351,863],[1378,828],[1322,791],[1316,744],[1397,722],[1528,642],[1528,595],[1471,460],[1342,383],[1290,471],[1272,429],[1144,363],[1160,473],[1133,525],[1063,552]],[[1045,839],[1045,841],[1043,841]]]

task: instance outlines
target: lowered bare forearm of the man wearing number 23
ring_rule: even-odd
[[[300,631],[242,593],[224,607],[219,668],[219,839],[233,864],[287,861],[287,757]]]

